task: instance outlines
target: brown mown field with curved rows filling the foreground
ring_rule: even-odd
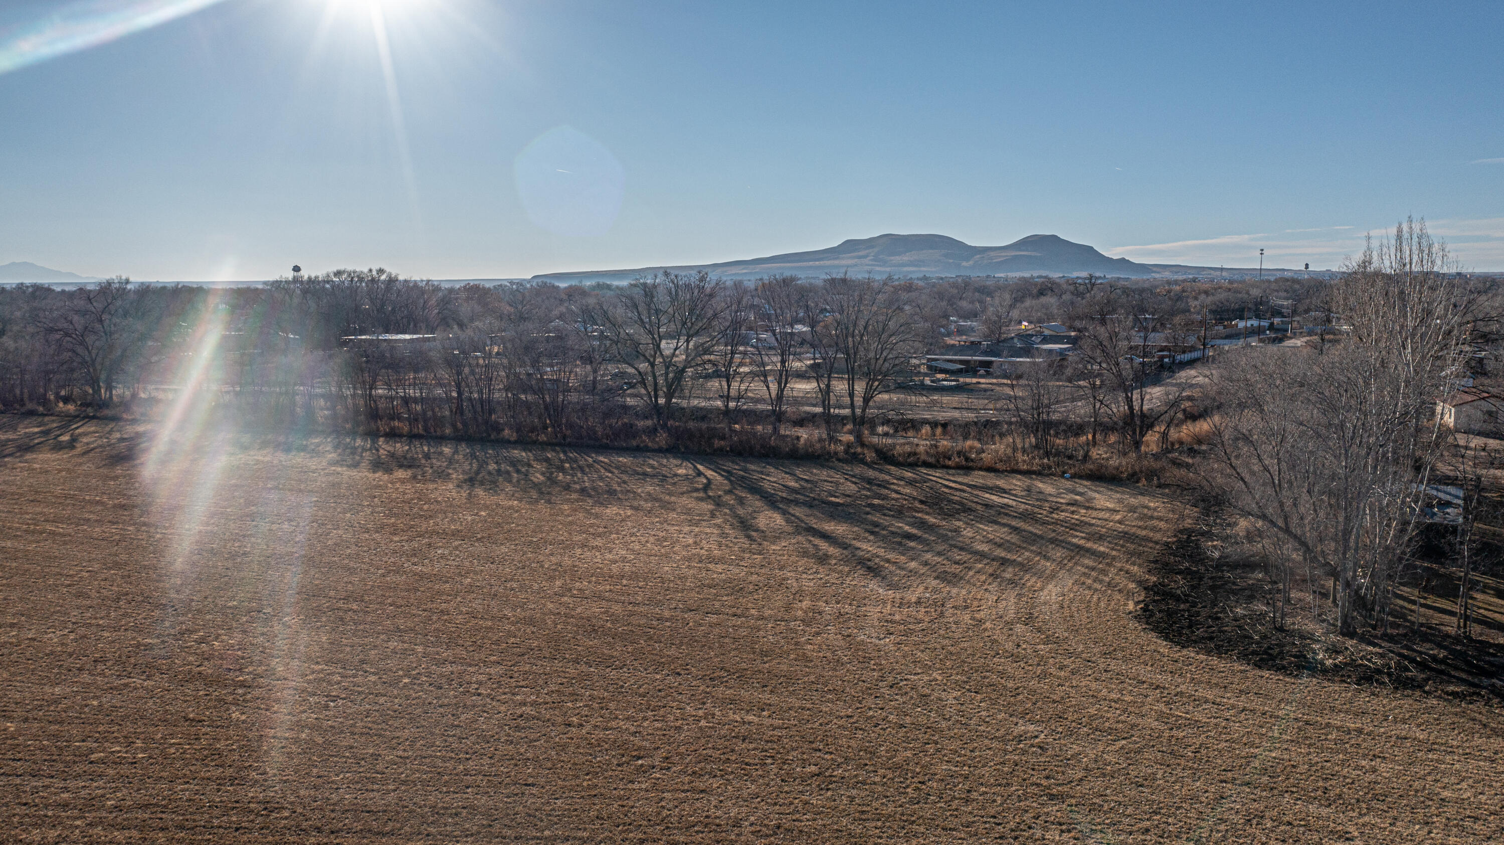
[[[1142,624],[1191,517],[1059,478],[0,416],[0,830],[1504,839],[1498,708]]]

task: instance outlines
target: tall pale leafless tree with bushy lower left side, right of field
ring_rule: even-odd
[[[1331,579],[1343,636],[1363,619],[1387,628],[1418,490],[1447,439],[1433,403],[1477,316],[1477,290],[1450,269],[1424,221],[1405,221],[1331,286],[1351,326],[1340,343],[1245,349],[1214,368],[1211,480],[1311,583]]]

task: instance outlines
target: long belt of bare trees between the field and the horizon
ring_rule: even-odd
[[[1017,329],[997,319],[1005,307],[1080,328],[1078,355],[1005,385],[999,410],[1026,448],[1053,459],[1087,426],[1090,445],[1111,433],[1142,451],[1182,406],[1151,400],[1161,373],[1146,349],[1193,331],[1187,290],[672,272],[594,290],[442,287],[385,269],[226,290],[23,286],[0,290],[0,407],[105,409],[212,382],[259,410],[373,432],[614,442],[617,429],[683,435],[714,409],[728,438],[741,422],[781,438],[794,415],[863,448],[952,320],[1002,338]]]

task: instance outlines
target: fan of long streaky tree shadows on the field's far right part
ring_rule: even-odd
[[[1093,483],[981,471],[779,460],[686,459],[705,495],[747,540],[758,517],[781,522],[884,586],[931,579],[988,586],[1020,567],[1048,564],[1087,588],[1123,586],[1093,565],[1143,544],[1143,534],[1099,508]],[[716,486],[714,480],[722,481]],[[1107,486],[1101,486],[1107,487]]]

